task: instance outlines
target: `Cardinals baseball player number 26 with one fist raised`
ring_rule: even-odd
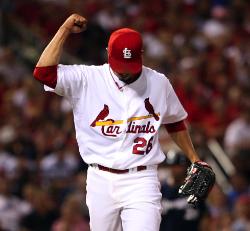
[[[67,18],[43,51],[34,77],[72,105],[80,154],[89,165],[86,201],[91,230],[157,231],[161,220],[157,165],[165,159],[158,142],[160,125],[193,164],[202,170],[210,167],[199,161],[185,126],[187,113],[169,80],[143,66],[139,32],[129,28],[113,32],[106,64],[59,64],[67,37],[84,31],[86,25],[78,14]],[[203,172],[196,169],[193,172]],[[201,198],[196,188],[190,190],[190,180],[180,192],[191,192],[190,202],[195,202]]]

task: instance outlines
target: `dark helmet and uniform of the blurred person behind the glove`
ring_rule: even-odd
[[[166,155],[165,164],[170,167],[182,165],[185,169],[189,165],[186,157],[181,153]],[[185,173],[184,169],[184,173]],[[183,174],[185,178],[185,174]],[[183,179],[184,180],[184,179]],[[206,211],[205,203],[197,208],[187,203],[187,198],[178,193],[180,185],[162,183],[162,221],[160,231],[198,231],[199,222]]]

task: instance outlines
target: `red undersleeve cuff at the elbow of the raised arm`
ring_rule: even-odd
[[[57,66],[35,67],[33,76],[39,82],[55,89],[57,83]]]

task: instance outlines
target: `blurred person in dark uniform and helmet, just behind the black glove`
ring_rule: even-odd
[[[181,151],[170,150],[166,153],[162,165],[167,177],[161,182],[163,211],[160,231],[199,230],[199,223],[206,212],[205,203],[194,208],[187,203],[186,197],[178,193],[189,165],[189,160]]]

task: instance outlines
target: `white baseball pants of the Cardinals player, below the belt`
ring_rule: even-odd
[[[88,168],[91,231],[159,231],[161,193],[156,166],[115,174]]]

